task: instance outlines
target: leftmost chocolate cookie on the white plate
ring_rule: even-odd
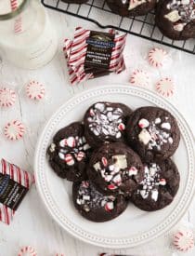
[[[84,125],[72,123],[58,131],[47,149],[50,166],[63,179],[82,181],[85,178],[89,148],[84,138]]]

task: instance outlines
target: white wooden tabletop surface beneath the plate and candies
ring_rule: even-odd
[[[147,52],[154,45],[149,41],[129,35],[124,51],[127,68],[123,74],[110,74],[72,88],[69,85],[66,63],[62,53],[63,39],[72,37],[73,30],[77,25],[95,30],[97,27],[92,23],[58,12],[49,11],[49,13],[59,38],[58,52],[55,58],[48,65],[36,71],[17,69],[5,60],[0,65],[0,85],[9,84],[18,93],[14,107],[9,110],[0,110],[1,157],[5,157],[21,168],[33,171],[33,155],[38,136],[42,132],[45,121],[58,109],[58,106],[70,99],[73,94],[84,89],[114,82],[128,82],[130,74],[135,68],[142,68],[150,73],[150,89],[154,89],[155,83],[164,75],[175,79],[176,93],[170,101],[185,116],[191,129],[195,129],[194,56],[167,48],[173,62],[165,69],[158,71],[151,68],[146,61]],[[45,101],[34,103],[26,98],[24,86],[30,79],[36,79],[45,84]],[[7,121],[16,118],[25,124],[27,132],[21,141],[10,142],[4,137],[3,128]],[[191,204],[184,219],[195,224],[194,212],[195,202]],[[131,224],[127,225],[130,228]],[[162,237],[140,248],[121,250],[121,252],[141,256],[168,256],[171,255],[168,244],[167,237]],[[84,244],[62,230],[47,214],[35,186],[25,197],[11,225],[0,223],[0,256],[17,255],[20,247],[26,245],[33,246],[39,256],[51,256],[57,252],[64,253],[66,256],[96,256],[97,253],[107,250]],[[195,250],[191,250],[187,255],[195,255]]]

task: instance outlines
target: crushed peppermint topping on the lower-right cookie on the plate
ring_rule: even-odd
[[[165,186],[166,180],[160,178],[159,171],[161,168],[155,164],[150,163],[149,166],[144,168],[144,180],[140,182],[137,194],[141,195],[143,199],[146,199],[151,195],[151,198],[156,202],[158,200],[159,186]]]

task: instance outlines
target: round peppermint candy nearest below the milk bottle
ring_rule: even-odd
[[[45,86],[32,80],[26,86],[26,94],[31,100],[40,101],[45,97]]]

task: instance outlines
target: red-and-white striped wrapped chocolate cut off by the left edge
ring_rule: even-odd
[[[0,221],[9,224],[34,177],[26,170],[1,160],[0,166]]]

